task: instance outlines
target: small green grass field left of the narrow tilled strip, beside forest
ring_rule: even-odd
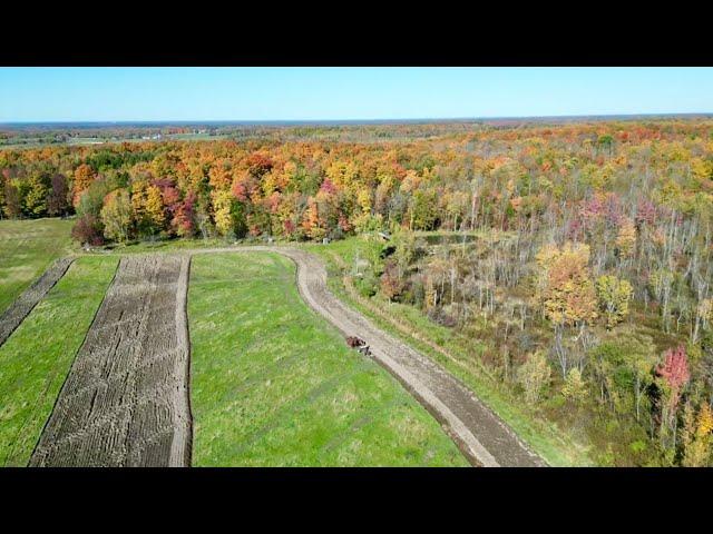
[[[71,250],[72,220],[0,220],[0,314]]]

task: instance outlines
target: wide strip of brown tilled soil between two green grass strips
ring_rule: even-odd
[[[121,259],[31,466],[188,466],[189,256]]]

